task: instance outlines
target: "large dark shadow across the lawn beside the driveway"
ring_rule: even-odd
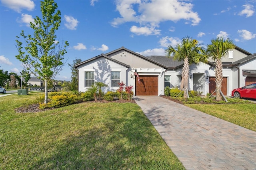
[[[182,164],[162,152],[162,138],[141,111],[122,113],[80,129],[54,145],[52,156],[42,158],[33,169],[180,169]],[[94,122],[92,122],[94,123]],[[102,124],[100,123],[100,124]],[[75,126],[75,125],[74,125]],[[165,146],[167,147],[167,146]],[[171,152],[171,151],[170,151]],[[165,155],[165,154],[168,155]],[[163,156],[164,155],[164,156]]]

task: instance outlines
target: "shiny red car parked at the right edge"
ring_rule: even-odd
[[[252,83],[244,87],[234,89],[232,91],[232,96],[238,97],[238,98],[244,97],[244,98],[256,99],[256,83]]]

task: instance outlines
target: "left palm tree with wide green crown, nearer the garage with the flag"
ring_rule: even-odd
[[[166,57],[170,58],[173,55],[175,60],[184,62],[181,73],[182,82],[180,84],[180,88],[184,90],[184,98],[188,98],[186,89],[188,89],[189,65],[196,62],[194,57],[202,56],[204,50],[201,45],[198,44],[197,40],[185,37],[182,38],[182,42],[180,44],[177,44],[175,47],[169,45],[165,51]]]

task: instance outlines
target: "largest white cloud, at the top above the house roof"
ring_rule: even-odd
[[[140,25],[157,26],[164,21],[186,20],[191,25],[198,25],[201,19],[192,8],[193,4],[178,0],[117,0],[116,10],[121,17],[114,18],[111,24],[116,27],[125,22],[137,22]]]

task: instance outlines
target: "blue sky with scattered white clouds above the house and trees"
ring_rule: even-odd
[[[56,80],[70,81],[75,57],[90,59],[122,46],[144,56],[165,55],[168,45],[186,36],[207,45],[219,35],[256,53],[255,0],[56,0],[62,22],[57,40],[68,41],[64,70]],[[20,75],[16,36],[33,34],[29,22],[40,1],[1,0],[0,69]]]

